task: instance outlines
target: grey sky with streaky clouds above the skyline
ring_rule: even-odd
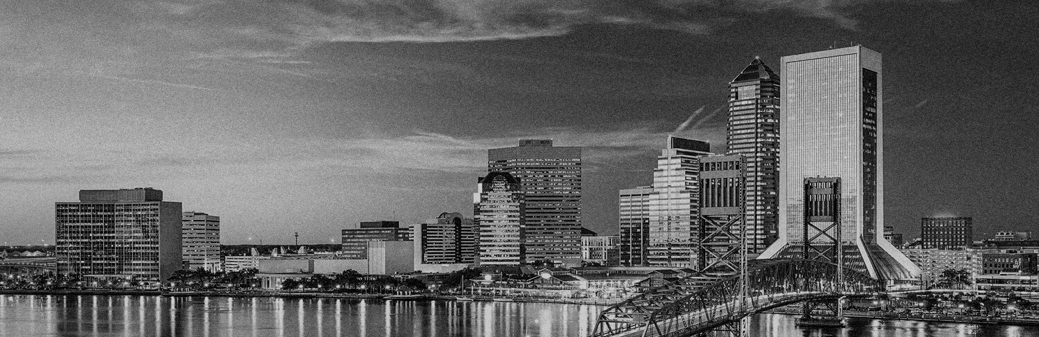
[[[338,243],[472,215],[486,149],[584,147],[585,226],[665,138],[724,151],[755,56],[883,54],[885,222],[1036,230],[1035,1],[0,0],[0,242],[54,202],[152,187],[224,244]],[[780,74],[780,77],[782,75]],[[689,120],[685,128],[680,128]]]

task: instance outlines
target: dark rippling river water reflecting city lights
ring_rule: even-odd
[[[0,294],[0,336],[587,336],[603,307],[542,303]],[[803,331],[755,317],[752,336],[1039,336],[1039,328],[849,319]]]

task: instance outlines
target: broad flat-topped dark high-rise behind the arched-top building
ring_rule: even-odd
[[[511,174],[525,193],[527,260],[581,265],[581,147],[525,139],[487,155],[487,170]]]

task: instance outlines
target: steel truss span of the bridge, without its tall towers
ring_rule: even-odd
[[[600,314],[592,336],[695,336],[784,305],[884,289],[867,274],[820,260],[754,260],[746,270],[713,280],[688,277],[618,303]]]

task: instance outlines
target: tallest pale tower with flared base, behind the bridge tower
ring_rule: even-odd
[[[881,235],[880,53],[854,46],[783,56],[780,63],[779,235],[761,257],[802,255],[810,220],[804,214],[806,191],[832,178],[840,186],[832,216],[844,265],[883,280],[918,277],[920,269]]]

